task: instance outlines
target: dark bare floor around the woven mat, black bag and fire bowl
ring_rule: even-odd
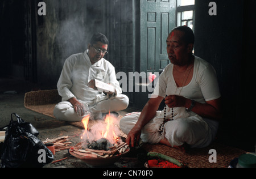
[[[24,108],[23,100],[24,93],[33,90],[33,88],[38,88],[30,83],[23,82],[22,80],[13,79],[1,79],[0,78],[0,128],[9,125],[11,120],[11,113],[18,114],[24,121],[32,123],[32,125],[39,131],[38,138],[40,140],[46,140],[47,138],[53,139],[61,137],[63,135],[68,135],[70,142],[73,145],[80,142],[80,135],[82,134],[82,129],[76,126],[69,125],[67,122],[57,121],[51,117],[44,116],[43,114],[36,113],[29,109]],[[41,88],[41,90],[44,90]],[[48,88],[46,90],[51,90]],[[128,112],[132,112],[133,109],[128,108],[122,112],[121,115],[125,115]],[[13,116],[15,119],[15,116]],[[63,159],[68,157],[63,161],[59,161],[55,164],[47,164],[45,168],[88,168],[92,167],[83,163],[80,159],[72,157],[68,154],[68,150],[63,150],[56,152],[54,160]],[[108,167],[143,167],[136,157],[136,154],[131,152],[126,158],[120,159],[117,163],[109,165]]]

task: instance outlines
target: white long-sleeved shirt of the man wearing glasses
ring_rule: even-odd
[[[92,108],[99,100],[104,100],[102,97],[105,96],[87,86],[92,79],[111,84],[118,94],[122,93],[114,66],[104,58],[92,65],[88,54],[84,52],[72,55],[65,61],[57,83],[59,95],[63,101],[76,97]]]

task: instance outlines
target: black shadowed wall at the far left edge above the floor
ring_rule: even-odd
[[[22,1],[0,1],[0,76],[17,71],[23,75],[19,68],[24,58],[23,5]],[[20,78],[20,74],[15,77]]]

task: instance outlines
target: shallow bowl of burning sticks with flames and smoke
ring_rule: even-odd
[[[89,116],[84,117],[82,123],[85,130],[81,135],[81,142],[70,148],[69,154],[93,166],[113,164],[127,154],[130,148],[118,137],[115,120],[114,116],[108,114],[105,122],[96,123],[88,130]]]

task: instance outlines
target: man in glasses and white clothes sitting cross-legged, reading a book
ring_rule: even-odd
[[[57,83],[62,102],[53,111],[58,120],[77,122],[88,114],[90,119],[97,120],[102,113],[117,112],[129,105],[129,98],[121,94],[114,66],[103,58],[108,54],[108,44],[105,35],[94,33],[84,53],[74,54],[65,61]],[[114,92],[90,88],[88,83],[93,79],[110,84]]]

